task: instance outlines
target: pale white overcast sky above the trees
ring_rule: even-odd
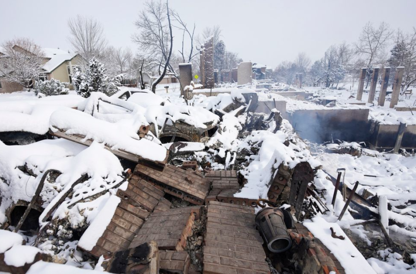
[[[93,16],[110,45],[129,46],[143,0],[2,0],[0,44],[30,37],[43,47],[70,48],[67,20]],[[357,40],[368,21],[385,21],[410,31],[416,26],[416,0],[169,0],[196,32],[220,25],[227,49],[244,61],[276,67],[306,52],[312,61],[332,45]],[[176,47],[179,48],[180,34]],[[174,42],[175,44],[175,42]]]

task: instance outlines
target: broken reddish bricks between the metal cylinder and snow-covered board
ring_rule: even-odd
[[[337,258],[306,227],[297,223],[294,229],[288,231],[293,239],[292,250],[296,251],[293,259],[298,262],[303,273],[345,274]]]

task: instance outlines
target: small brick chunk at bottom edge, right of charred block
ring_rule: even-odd
[[[189,255],[186,251],[159,251],[160,269],[168,273],[187,274],[189,269]]]

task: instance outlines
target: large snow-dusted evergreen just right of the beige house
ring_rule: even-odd
[[[120,86],[120,81],[123,79],[123,74],[117,75],[113,79],[109,79],[105,74],[106,70],[104,65],[93,57],[88,63],[85,74],[79,69],[75,71],[75,91],[85,98],[90,97],[91,92],[97,91],[103,92],[108,96],[116,93],[116,91],[118,91],[117,86]]]

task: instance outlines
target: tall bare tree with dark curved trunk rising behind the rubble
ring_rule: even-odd
[[[145,8],[135,21],[139,33],[133,35],[133,40],[146,54],[148,60],[159,60],[159,77],[152,83],[152,91],[162,81],[172,55],[173,36],[168,2],[151,0],[145,3]]]

